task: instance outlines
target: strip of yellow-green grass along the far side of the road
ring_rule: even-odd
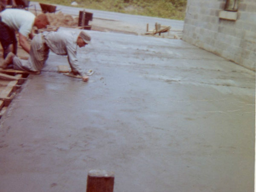
[[[102,11],[184,20],[186,0],[35,0],[40,3],[71,6]]]

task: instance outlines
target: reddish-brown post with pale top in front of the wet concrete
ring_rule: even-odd
[[[105,170],[90,170],[86,192],[113,192],[114,173]]]

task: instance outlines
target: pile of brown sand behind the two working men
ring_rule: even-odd
[[[46,13],[51,26],[77,27],[78,17],[72,15],[58,13]]]

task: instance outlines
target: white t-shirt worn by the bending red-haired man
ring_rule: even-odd
[[[11,29],[18,31],[25,37],[31,33],[35,22],[35,15],[22,9],[5,9],[0,16],[2,21]]]

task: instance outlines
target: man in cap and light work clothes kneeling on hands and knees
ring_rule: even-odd
[[[43,32],[31,41],[29,59],[23,60],[10,52],[1,68],[5,69],[10,63],[13,63],[15,70],[26,70],[31,72],[40,72],[48,58],[49,49],[57,55],[67,55],[68,63],[74,75],[82,76],[83,81],[88,81],[89,77],[81,69],[76,57],[77,46],[84,47],[90,43],[90,35],[81,31],[79,34],[73,31]]]

